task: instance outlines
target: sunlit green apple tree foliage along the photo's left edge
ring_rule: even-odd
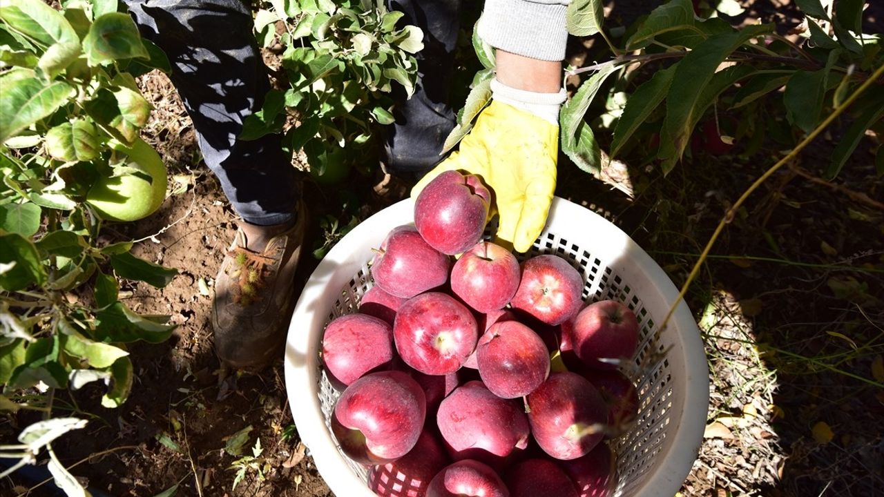
[[[52,417],[55,392],[103,382],[103,406],[118,407],[133,385],[126,344],[173,328],[120,302],[119,281],[164,287],[176,271],[99,238],[85,203],[97,178],[131,173],[110,142],[139,138],[151,108],[134,77],[153,68],[169,62],[117,0],[0,4],[0,410],[47,413],[0,453],[33,463],[46,448],[69,493],[82,494],[50,442],[85,421]]]

